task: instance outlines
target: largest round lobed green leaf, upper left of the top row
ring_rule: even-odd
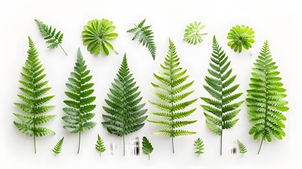
[[[82,32],[83,44],[88,45],[87,50],[90,51],[90,54],[97,56],[102,52],[103,55],[108,56],[110,50],[115,51],[113,45],[109,42],[111,39],[118,37],[118,34],[113,33],[113,30],[115,30],[113,22],[106,19],[90,20],[84,26]],[[115,51],[115,53],[118,54],[118,51]]]

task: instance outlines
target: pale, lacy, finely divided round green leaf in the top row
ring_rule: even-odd
[[[187,25],[187,29],[184,30],[184,41],[188,42],[189,44],[199,44],[203,42],[201,35],[206,35],[207,33],[201,33],[200,31],[204,29],[206,26],[201,25],[201,23],[190,23]]]

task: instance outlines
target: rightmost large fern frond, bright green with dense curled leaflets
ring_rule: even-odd
[[[288,111],[288,104],[284,98],[286,89],[282,88],[282,78],[279,77],[277,65],[272,61],[272,55],[268,41],[263,45],[256,63],[253,63],[251,89],[247,90],[249,122],[253,125],[249,134],[253,139],[261,138],[260,152],[263,140],[272,141],[272,136],[282,139],[285,136],[285,125],[282,121],[287,120],[282,112]]]

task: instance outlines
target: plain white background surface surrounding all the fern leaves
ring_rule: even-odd
[[[0,6],[0,52],[1,52],[1,96],[0,96],[0,168],[301,168],[301,5],[298,1],[1,1]],[[110,56],[93,56],[86,46],[82,45],[82,27],[94,18],[113,20],[119,37],[112,41],[119,55],[111,52]],[[137,41],[132,42],[132,34],[126,31],[146,18],[146,25],[152,25],[157,46],[157,57],[153,61],[148,49]],[[68,52],[65,56],[61,49],[46,49],[34,19],[43,20],[64,32],[63,47]],[[196,46],[182,42],[186,25],[195,20],[206,25],[208,35],[203,36],[203,43]],[[227,32],[234,25],[248,25],[255,30],[255,43],[251,49],[241,54],[235,53],[227,46]],[[248,89],[251,67],[258,55],[263,42],[268,39],[274,61],[287,90],[287,101],[290,110],[285,113],[287,137],[282,141],[273,139],[265,142],[260,155],[257,155],[260,140],[253,140],[248,134],[251,125],[248,123],[246,104],[241,106],[239,123],[230,130],[225,130],[223,138],[223,155],[219,156],[220,137],[208,131],[205,125],[203,110],[196,101],[194,115],[189,119],[197,119],[188,130],[197,134],[175,139],[175,154],[172,154],[170,138],[154,135],[158,127],[146,125],[126,138],[146,136],[153,143],[154,151],[151,161],[147,156],[122,156],[122,139],[108,134],[101,126],[101,106],[109,92],[111,82],[117,73],[122,55],[127,52],[130,70],[140,86],[143,101],[155,100],[150,82],[154,82],[153,73],[160,69],[165,54],[168,51],[168,37],[175,42],[180,56],[181,66],[187,68],[189,80],[195,80],[191,89],[194,94],[189,99],[208,96],[202,85],[208,75],[210,53],[213,35],[226,51],[232,61],[233,73],[237,74],[236,83],[241,84],[238,92],[244,92],[240,99],[245,99]],[[20,71],[27,58],[27,36],[32,37],[39,51],[39,58],[46,68],[46,79],[53,87],[49,94],[55,94],[49,104],[56,105],[49,114],[57,117],[46,123],[46,126],[56,132],[54,136],[37,139],[37,154],[34,154],[32,137],[21,134],[14,126],[13,113],[20,113],[13,102],[19,101]],[[93,119],[98,123],[93,130],[82,134],[82,146],[77,155],[77,134],[69,134],[63,130],[61,117],[64,115],[63,100],[67,99],[64,92],[67,89],[70,71],[73,70],[77,48],[80,47],[87,61],[88,68],[94,76],[94,95],[97,104]],[[146,104],[149,112],[156,108]],[[149,116],[149,118],[153,118]],[[94,149],[97,133],[101,134],[109,150],[111,142],[118,146],[118,151],[111,156],[109,151],[100,158]],[[51,149],[58,139],[65,137],[63,153],[54,157]],[[206,153],[200,157],[194,154],[192,144],[201,137],[206,146]],[[230,155],[227,151],[234,140],[240,139],[246,144],[248,153],[243,158]],[[143,167],[141,167],[143,166]]]

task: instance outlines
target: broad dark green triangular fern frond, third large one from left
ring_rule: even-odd
[[[137,92],[134,77],[128,68],[126,54],[122,58],[120,70],[117,73],[118,78],[114,79],[111,94],[107,94],[109,99],[105,99],[108,106],[103,106],[103,110],[108,115],[103,114],[102,125],[107,128],[108,132],[122,137],[125,156],[125,135],[136,132],[144,126],[144,121],[148,117],[144,115],[145,104],[141,104],[141,92]]]

